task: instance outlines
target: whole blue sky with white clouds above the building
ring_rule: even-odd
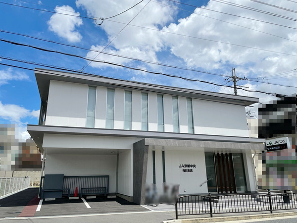
[[[237,84],[252,91],[238,90],[239,95],[258,97],[260,102],[267,102],[274,100],[275,97],[253,91],[289,95],[296,93],[297,90],[295,78],[297,16],[294,11],[290,11],[292,8],[297,8],[297,3],[294,1],[265,1],[268,4],[251,0],[143,0],[141,2],[140,0],[2,0],[1,2],[0,63],[3,64],[0,64],[0,123],[18,124],[22,138],[29,137],[26,124],[38,123],[40,109],[34,71],[30,69],[43,67],[27,62],[49,64],[76,71],[83,70],[87,73],[124,80],[228,94],[234,94],[230,88],[233,82],[228,79],[231,68],[234,67],[237,76],[242,78]],[[99,18],[117,15],[138,2],[140,3],[135,7],[120,15],[104,19],[101,25],[97,25],[93,19],[98,18],[99,23],[101,22]],[[253,10],[248,10],[246,7]],[[96,58],[101,62],[89,64],[84,58],[16,44],[90,59]],[[99,54],[98,52],[102,50],[104,53],[118,56]],[[22,60],[25,63],[8,58]],[[151,74],[105,62],[198,81]],[[157,63],[166,66],[159,66]],[[247,110],[256,113],[257,109],[247,108]]]

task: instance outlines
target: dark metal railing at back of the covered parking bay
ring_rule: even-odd
[[[40,180],[39,194],[43,189],[44,176]],[[77,193],[81,193],[81,188],[99,188],[106,187],[106,193],[108,194],[109,188],[109,175],[93,175],[93,176],[64,176],[63,188],[70,188],[70,194],[75,193],[77,187]],[[66,192],[66,191],[64,191]],[[67,195],[63,192],[63,196]]]

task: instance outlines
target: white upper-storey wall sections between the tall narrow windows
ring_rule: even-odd
[[[106,87],[97,87],[95,128],[105,128]],[[69,99],[75,100],[69,100]],[[46,125],[85,127],[88,85],[50,81]],[[114,129],[124,129],[125,91],[115,89]],[[248,137],[244,106],[193,99],[195,134]],[[172,96],[163,95],[164,131],[173,132]],[[180,132],[188,133],[187,103],[178,97]],[[141,91],[132,91],[132,130],[141,130]],[[157,94],[148,93],[148,130],[157,131]]]

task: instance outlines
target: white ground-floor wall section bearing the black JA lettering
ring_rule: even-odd
[[[183,172],[181,164],[196,165],[193,172]],[[207,193],[204,151],[165,150],[166,182],[180,184],[180,194]]]

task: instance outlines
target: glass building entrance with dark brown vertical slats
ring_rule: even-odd
[[[208,192],[247,191],[243,154],[205,153]]]

